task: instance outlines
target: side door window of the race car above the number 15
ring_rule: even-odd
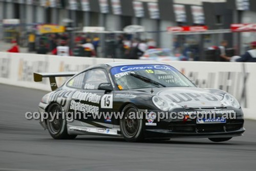
[[[97,90],[101,83],[109,83],[108,77],[106,76],[103,69],[92,69],[87,72],[84,89]]]

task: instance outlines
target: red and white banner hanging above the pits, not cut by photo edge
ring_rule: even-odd
[[[207,30],[207,26],[167,27],[168,32],[204,32]]]

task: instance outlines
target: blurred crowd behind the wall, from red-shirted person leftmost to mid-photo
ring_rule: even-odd
[[[73,39],[66,33],[41,35],[33,39],[31,37],[29,36],[29,52],[58,56],[96,57],[103,52],[106,58],[138,59],[148,48],[156,48],[153,39],[132,39],[127,35],[107,35],[101,50],[98,48],[98,35],[78,34]],[[13,40],[11,43],[12,47],[8,52],[18,53],[17,41]]]

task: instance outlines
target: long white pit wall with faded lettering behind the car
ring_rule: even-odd
[[[115,62],[129,60],[115,59]],[[0,52],[0,83],[50,91],[48,79],[33,81],[33,72],[81,71],[89,66],[113,62],[107,58],[60,57]],[[237,97],[245,118],[256,119],[256,63],[166,61],[201,88],[218,88]],[[58,84],[67,78],[58,78]],[[4,91],[4,90],[0,90]]]

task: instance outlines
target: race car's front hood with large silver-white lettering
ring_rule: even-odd
[[[203,89],[197,87],[165,87],[140,89],[152,95],[179,104],[182,107],[221,107],[223,95],[226,93],[217,89]]]

